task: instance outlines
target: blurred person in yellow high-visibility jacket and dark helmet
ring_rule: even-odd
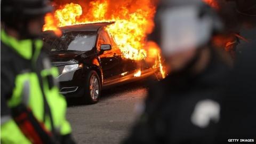
[[[66,101],[38,39],[44,0],[1,1],[1,143],[74,143]]]

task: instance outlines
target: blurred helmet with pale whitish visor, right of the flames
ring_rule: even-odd
[[[166,0],[158,6],[155,29],[148,38],[168,54],[199,48],[209,43],[214,34],[221,33],[222,28],[217,13],[202,0]]]

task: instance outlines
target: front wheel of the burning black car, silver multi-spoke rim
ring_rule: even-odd
[[[96,71],[92,70],[85,79],[83,103],[94,104],[99,101],[101,94],[100,78]]]

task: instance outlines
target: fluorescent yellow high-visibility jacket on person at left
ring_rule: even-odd
[[[1,143],[31,143],[11,115],[11,109],[20,103],[30,108],[48,131],[71,133],[66,100],[55,83],[58,70],[51,67],[42,47],[39,39],[18,41],[1,30]],[[43,94],[51,110],[53,127],[50,116],[45,115]]]

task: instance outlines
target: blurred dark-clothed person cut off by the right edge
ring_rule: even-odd
[[[219,143],[227,143],[228,139],[256,141],[256,1],[235,2],[239,24],[243,25],[241,34],[249,42],[238,45],[242,53],[223,95]]]

